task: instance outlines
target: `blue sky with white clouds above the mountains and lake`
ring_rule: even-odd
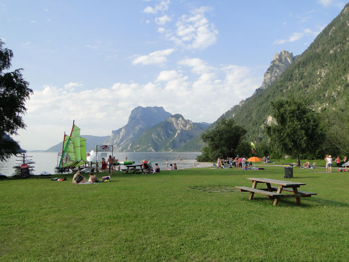
[[[212,123],[261,86],[275,53],[301,54],[345,4],[0,0],[10,71],[23,68],[34,91],[14,139],[46,150],[73,120],[82,135],[108,136],[137,106]]]

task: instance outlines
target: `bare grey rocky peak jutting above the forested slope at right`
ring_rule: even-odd
[[[271,85],[275,79],[282,74],[287,67],[294,61],[295,57],[292,52],[282,50],[280,53],[275,53],[273,60],[270,62],[270,66],[264,73],[264,80],[261,85],[261,89],[267,88]]]

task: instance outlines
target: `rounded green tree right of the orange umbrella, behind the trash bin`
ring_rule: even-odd
[[[276,121],[267,127],[271,145],[281,153],[297,156],[313,154],[325,137],[319,115],[305,102],[290,98],[271,102],[272,117]]]

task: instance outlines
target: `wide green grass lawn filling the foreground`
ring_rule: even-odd
[[[0,261],[348,261],[349,172],[294,168],[292,181],[318,195],[274,207],[234,188],[285,180],[283,167],[265,168],[2,180]]]

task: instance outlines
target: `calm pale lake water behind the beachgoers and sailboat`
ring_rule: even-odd
[[[111,155],[111,152],[107,152],[108,156]],[[153,167],[155,163],[158,163],[160,166],[160,170],[166,169],[166,160],[169,161],[170,164],[176,163],[178,169],[191,168],[196,166],[198,163],[196,162],[196,156],[200,155],[200,152],[194,153],[126,153],[126,152],[113,152],[113,156],[115,159],[119,159],[119,161],[125,161],[127,157],[127,161],[135,161],[135,164],[142,164],[144,159],[149,159],[152,161]],[[40,174],[42,171],[47,171],[51,174],[55,173],[54,168],[57,166],[57,153],[48,153],[48,152],[28,152],[27,159],[32,159],[35,161],[35,164],[31,164],[34,166],[35,171],[34,174]],[[31,157],[29,157],[31,156]],[[179,157],[179,158],[178,158]],[[7,162],[0,162],[0,173],[4,175],[11,175],[14,172],[12,168],[15,165],[20,164],[19,158],[11,157]],[[121,166],[121,168],[124,168]]]

